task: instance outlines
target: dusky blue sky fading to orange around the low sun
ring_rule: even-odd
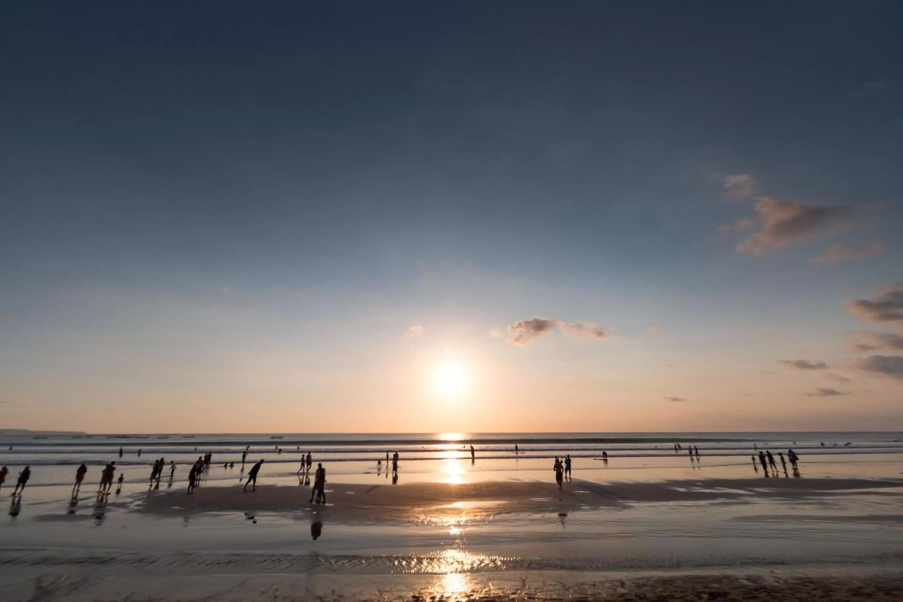
[[[0,427],[903,430],[898,2],[0,5]]]

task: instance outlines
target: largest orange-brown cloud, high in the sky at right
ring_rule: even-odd
[[[819,228],[840,218],[841,208],[812,207],[793,200],[759,197],[756,199],[759,232],[750,234],[737,245],[737,250],[753,255],[766,255],[815,234]]]

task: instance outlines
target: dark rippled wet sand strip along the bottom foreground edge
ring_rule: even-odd
[[[434,602],[480,600],[505,602],[584,600],[722,600],[782,602],[809,600],[894,600],[903,598],[903,572],[885,569],[859,575],[824,571],[769,571],[706,575],[646,576],[561,572],[515,572],[504,576],[446,574],[430,578],[387,576],[354,579],[320,575],[229,574],[160,579],[158,575],[94,576],[88,573],[44,574],[6,581],[5,602],[97,602],[140,599],[143,602],[303,602],[380,600]]]

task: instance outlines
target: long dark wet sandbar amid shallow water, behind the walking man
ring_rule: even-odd
[[[858,495],[903,487],[903,479],[774,478],[698,479],[658,483],[600,484],[574,480],[562,489],[541,481],[496,481],[461,485],[337,484],[327,488],[327,505],[311,505],[307,486],[206,486],[192,495],[149,491],[138,510],[158,515],[205,512],[293,512],[316,509],[324,519],[356,522],[423,522],[424,516],[470,518],[498,514],[570,514],[580,510],[623,508],[633,503],[706,502],[742,498],[804,499]],[[894,492],[898,495],[899,492]]]

